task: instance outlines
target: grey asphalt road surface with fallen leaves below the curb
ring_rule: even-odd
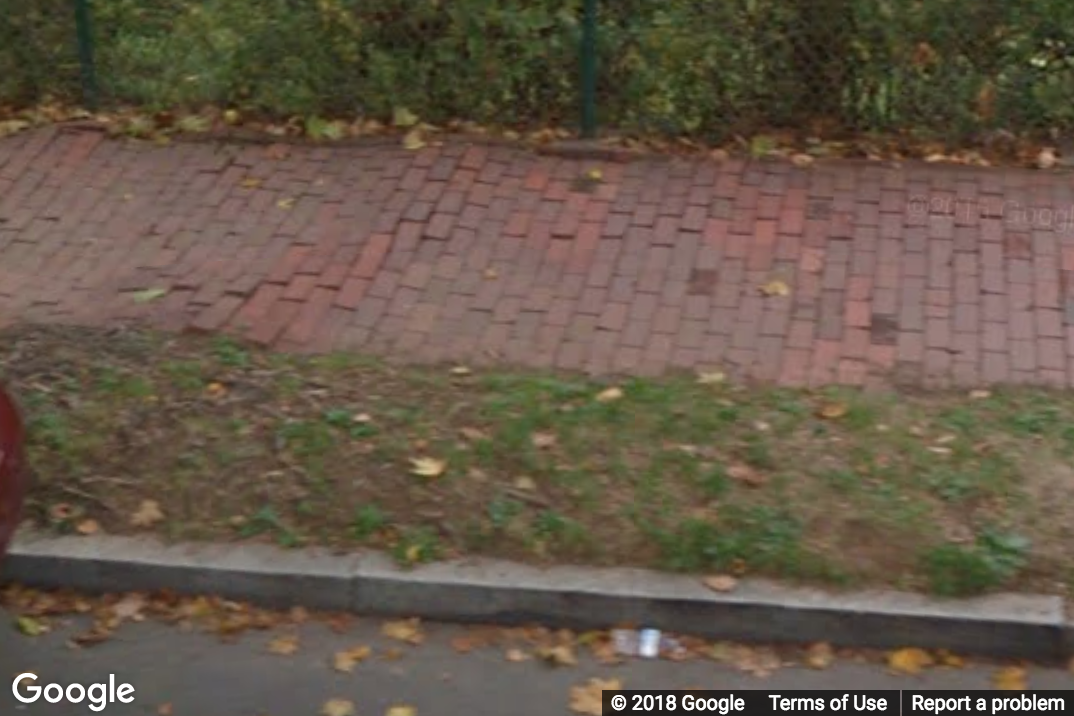
[[[879,663],[837,659],[829,668],[778,669],[759,678],[714,661],[672,662],[632,659],[600,664],[580,649],[577,666],[553,668],[540,660],[511,661],[505,646],[460,654],[462,627],[423,625],[421,645],[401,645],[380,634],[382,622],[360,619],[345,633],[323,624],[296,629],[291,655],[270,653],[270,642],[286,630],[244,634],[236,643],[176,626],[145,622],[125,625],[114,637],[86,648],[68,646],[84,623],[58,625],[47,634],[27,638],[0,612],[0,674],[4,675],[0,714],[156,714],[172,716],[304,716],[320,714],[326,701],[353,703],[355,716],[381,716],[409,705],[418,716],[560,716],[572,713],[570,689],[591,677],[619,678],[624,688],[712,689],[983,689],[1003,664],[974,663],[961,669],[929,669],[918,676],[888,673]],[[336,652],[360,645],[373,656],[351,673],[333,669]],[[401,648],[394,659],[383,655]],[[134,687],[130,704],[113,703],[91,712],[86,703],[18,703],[12,693],[16,674],[33,671],[39,684],[107,682]],[[1029,688],[1071,689],[1074,674],[1062,669],[1029,668]],[[400,712],[405,713],[405,712]]]

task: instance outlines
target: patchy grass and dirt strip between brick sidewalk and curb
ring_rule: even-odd
[[[1039,391],[608,384],[60,326],[5,331],[0,377],[33,428],[28,517],[60,534],[952,596],[1074,570],[1074,406]]]

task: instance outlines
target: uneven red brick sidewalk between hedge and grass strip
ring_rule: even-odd
[[[593,167],[19,134],[0,141],[0,322],[786,384],[1074,378],[1068,177],[647,160],[584,191]],[[761,294],[773,279],[788,296]]]

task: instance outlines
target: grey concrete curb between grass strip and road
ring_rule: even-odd
[[[634,624],[738,641],[920,646],[1041,661],[1074,656],[1074,623],[1062,599],[1035,595],[941,601],[764,581],[715,594],[690,576],[634,569],[540,569],[482,559],[403,570],[376,554],[42,535],[16,540],[0,580],[98,593],[171,589],[265,607],[463,623]]]

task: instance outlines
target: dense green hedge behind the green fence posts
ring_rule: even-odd
[[[0,101],[77,97],[70,0],[0,0]],[[97,0],[106,97],[275,115],[572,121],[581,0]],[[1074,125],[1069,0],[601,0],[605,125]]]

